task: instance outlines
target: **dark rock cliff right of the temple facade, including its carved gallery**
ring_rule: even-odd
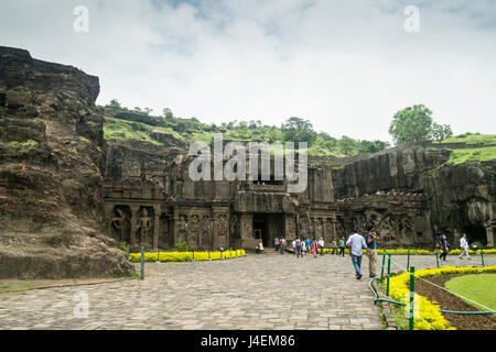
[[[463,143],[448,146],[474,147]],[[435,237],[444,232],[457,246],[466,232],[472,242],[494,246],[496,161],[451,165],[450,154],[444,144],[419,142],[343,160],[342,168],[333,174],[335,198],[344,200],[345,218],[356,218],[344,220],[344,228],[349,231],[373,222],[379,231],[399,234],[389,239],[391,245],[434,245]],[[418,205],[412,207],[416,195]],[[401,239],[405,229],[410,235]],[[417,235],[421,241],[409,241]]]

